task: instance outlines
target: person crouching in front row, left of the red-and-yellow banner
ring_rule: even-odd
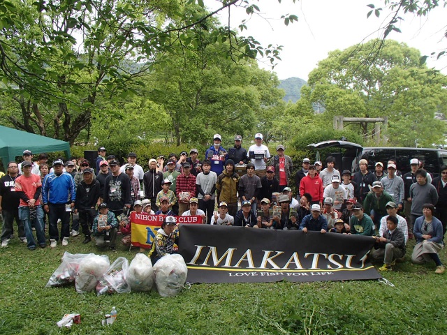
[[[115,214],[108,209],[105,202],[99,204],[99,214],[93,221],[93,235],[96,237],[96,246],[103,248],[108,246],[111,251],[116,251],[115,240],[119,223]]]

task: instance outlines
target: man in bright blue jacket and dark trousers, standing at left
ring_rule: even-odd
[[[57,220],[61,219],[61,240],[63,246],[68,246],[70,237],[70,212],[75,207],[75,181],[70,174],[64,172],[64,162],[57,159],[53,162],[54,173],[47,174],[43,179],[42,200],[43,209],[48,213],[50,221],[50,246],[55,248],[59,239]]]

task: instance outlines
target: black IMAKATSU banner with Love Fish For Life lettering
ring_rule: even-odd
[[[189,283],[377,279],[371,237],[221,225],[180,225]]]

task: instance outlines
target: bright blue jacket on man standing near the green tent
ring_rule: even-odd
[[[67,204],[75,200],[75,181],[71,174],[62,172],[59,176],[54,173],[45,176],[42,185],[43,204]]]

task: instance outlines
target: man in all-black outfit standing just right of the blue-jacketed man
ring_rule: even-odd
[[[93,225],[93,220],[96,216],[96,204],[99,204],[99,197],[101,195],[101,185],[99,181],[93,179],[94,171],[87,168],[82,171],[82,181],[78,184],[75,200],[75,213],[79,213],[79,221],[81,223],[82,232],[85,235],[85,240],[82,244],[87,244],[91,241],[90,229]]]

